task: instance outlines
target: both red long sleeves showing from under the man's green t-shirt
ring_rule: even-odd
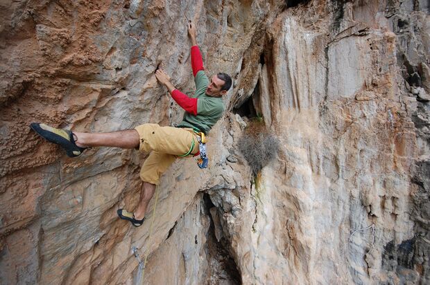
[[[203,71],[203,59],[198,46],[191,46],[191,68],[193,68],[193,75],[196,77],[198,71]],[[171,92],[173,100],[175,100],[182,109],[188,113],[197,115],[197,98],[189,98],[187,95],[174,89]]]

